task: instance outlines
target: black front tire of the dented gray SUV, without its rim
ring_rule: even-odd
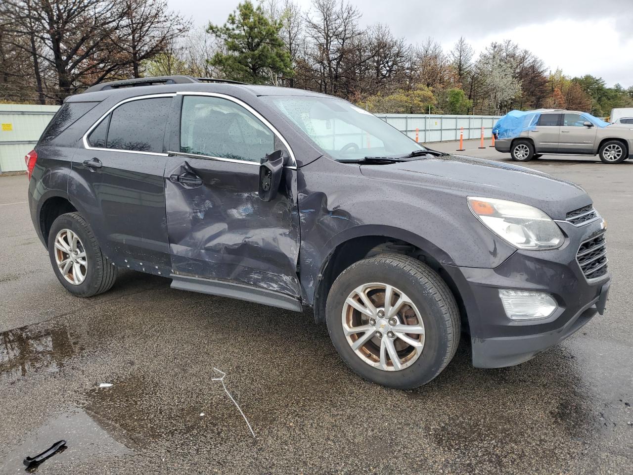
[[[424,284],[417,277],[386,263],[358,264],[342,272],[332,285],[327,298],[326,320],[332,343],[349,367],[366,379],[400,389],[415,388],[428,383],[442,368],[449,346],[442,310],[427,287],[431,285],[430,282]],[[354,353],[343,332],[342,310],[346,298],[353,289],[369,282],[390,284],[403,291],[421,314],[419,316],[425,328],[422,355],[403,370],[382,371],[368,365]]]

